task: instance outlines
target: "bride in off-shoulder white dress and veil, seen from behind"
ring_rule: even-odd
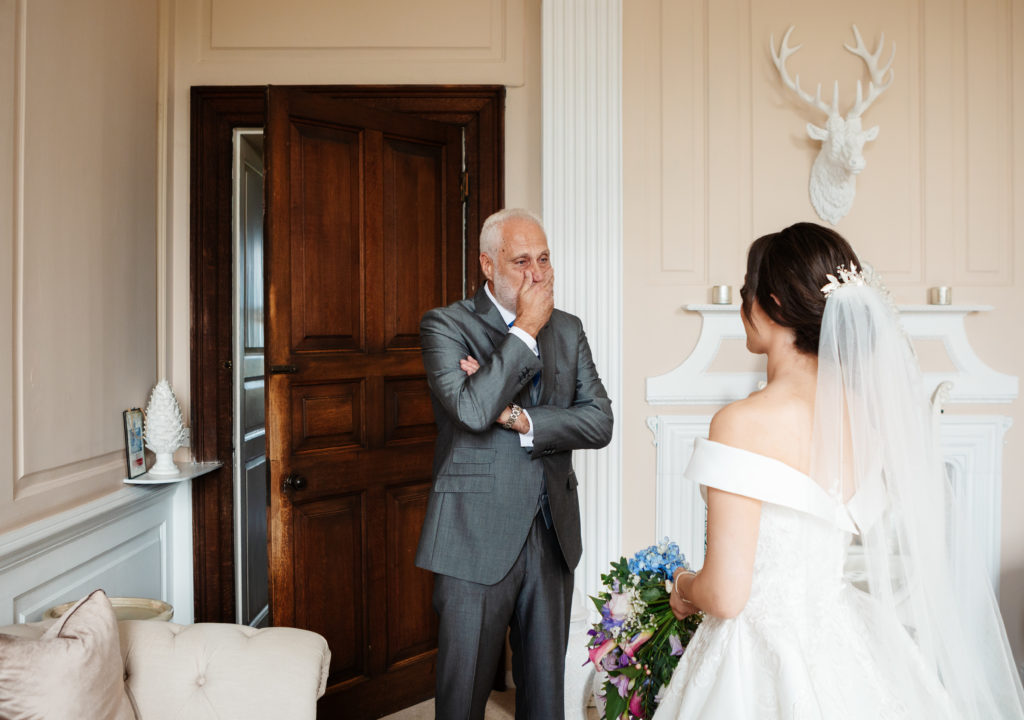
[[[768,383],[716,414],[687,468],[708,550],[672,603],[706,618],[655,720],[1024,718],[991,587],[947,562],[912,348],[860,265],[812,223],[751,247],[741,315]]]

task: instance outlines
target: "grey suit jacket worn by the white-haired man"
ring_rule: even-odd
[[[420,337],[438,435],[416,564],[497,583],[518,557],[546,483],[562,555],[574,568],[583,545],[572,451],[603,448],[612,425],[580,319],[554,310],[538,334],[539,358],[508,332],[481,286],[473,299],[424,314]],[[459,368],[466,355],[480,363],[471,376]],[[542,363],[534,406],[529,387]],[[532,451],[495,423],[512,401],[527,409]]]

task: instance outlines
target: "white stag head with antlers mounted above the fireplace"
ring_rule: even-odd
[[[839,112],[839,81],[833,88],[831,104],[821,99],[821,84],[813,96],[800,87],[800,75],[791,79],[785,69],[785,61],[803,45],[790,47],[790,35],[794,26],[785,31],[782,44],[775,50],[775,36],[771,36],[771,56],[775,61],[782,82],[797,93],[800,99],[825,114],[824,127],[814,123],[807,124],[807,134],[821,142],[821,150],[811,168],[810,194],[811,205],[818,216],[831,224],[838,223],[853,207],[853,197],[857,192],[857,175],[864,169],[864,143],[879,136],[879,126],[864,130],[861,128],[861,117],[883,92],[889,89],[893,82],[892,63],[896,56],[896,45],[893,44],[892,54],[884,67],[879,67],[879,58],[886,42],[885,33],[879,40],[874,52],[869,52],[864,46],[857,26],[853,26],[853,36],[856,47],[844,44],[847,50],[864,60],[871,79],[867,83],[867,96],[863,94],[860,81],[857,81],[857,101],[853,103],[844,118]],[[887,77],[888,76],[888,77]]]

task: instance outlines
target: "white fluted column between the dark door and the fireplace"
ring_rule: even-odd
[[[622,2],[545,0],[542,28],[543,217],[555,305],[583,320],[615,414],[607,448],[573,454],[584,548],[577,588],[593,594],[622,552]]]

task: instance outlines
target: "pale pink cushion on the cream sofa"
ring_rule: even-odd
[[[0,718],[135,720],[106,594],[79,600],[36,640],[0,634]]]

